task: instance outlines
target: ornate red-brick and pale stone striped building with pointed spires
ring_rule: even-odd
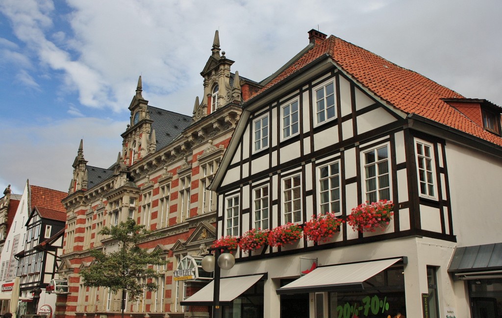
[[[109,169],[87,165],[80,142],[69,195],[63,201],[67,220],[59,274],[69,289],[58,295],[58,316],[120,314],[121,293],[86,287],[78,273],[92,261],[90,249],[114,246],[99,231],[128,218],[153,231],[141,247],[159,249],[167,265],[158,268],[158,291],[128,300],[126,314],[207,315],[207,307],[188,309],[180,301],[208,279],[198,274],[200,255],[215,239],[216,196],[207,187],[239,119],[241,101],[259,89],[238,72],[231,73],[233,63],[220,53],[216,31],[201,72],[203,98],[195,99],[192,116],[148,105],[140,76],[129,106],[130,124]],[[177,270],[183,269],[193,269],[196,277],[178,277]]]

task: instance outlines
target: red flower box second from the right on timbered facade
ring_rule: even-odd
[[[305,223],[303,234],[309,241],[327,242],[333,235],[340,232],[342,222],[334,213],[314,215],[312,216],[312,220]]]

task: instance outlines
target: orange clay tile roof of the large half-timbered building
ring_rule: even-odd
[[[362,86],[397,109],[408,114],[415,113],[502,146],[501,137],[485,131],[441,100],[441,98],[463,98],[462,95],[334,36],[314,46],[250,99],[323,55],[331,57],[343,71]]]

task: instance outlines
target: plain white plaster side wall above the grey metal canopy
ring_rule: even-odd
[[[450,142],[445,151],[458,246],[502,242],[502,161]]]

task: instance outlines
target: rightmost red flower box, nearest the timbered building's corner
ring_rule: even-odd
[[[380,200],[371,204],[362,203],[347,217],[347,223],[359,232],[375,232],[384,229],[392,219],[394,204],[392,201]]]

